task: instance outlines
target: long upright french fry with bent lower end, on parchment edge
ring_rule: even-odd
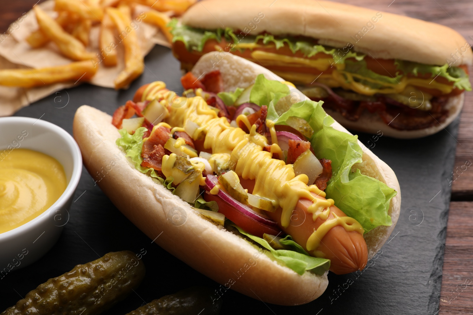
[[[144,60],[138,43],[138,37],[131,24],[130,8],[121,6],[119,9],[107,8],[125,50],[125,68],[115,78],[115,89],[128,86],[144,70]]]

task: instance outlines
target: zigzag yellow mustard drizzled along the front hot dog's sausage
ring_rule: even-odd
[[[170,93],[174,94],[174,92]],[[199,95],[200,91],[196,94]],[[167,101],[163,99],[161,102]],[[176,106],[176,104],[179,105]],[[272,158],[273,153],[281,154],[282,152],[277,142],[274,123],[271,120],[266,121],[272,137],[271,152],[267,152],[263,150],[268,145],[267,138],[256,132],[255,125],[250,126],[245,115],[239,115],[236,120],[242,121],[248,127],[249,134],[241,128],[231,127],[227,118],[218,117],[217,112],[211,109],[201,96],[187,99],[183,97],[177,102],[167,102],[167,108],[169,109],[169,117],[165,119],[167,126],[182,127],[188,120],[199,126],[190,136],[197,140],[202,133],[205,134],[204,148],[212,150],[210,165],[218,164],[222,169],[235,171],[242,179],[255,180],[253,194],[271,199],[275,208],[282,208],[281,225],[283,227],[289,226],[291,215],[299,199],[311,200],[312,205],[307,208],[307,212],[312,213],[314,221],[317,218],[326,220],[307,240],[307,250],[316,256],[323,255],[316,251],[316,248],[324,235],[334,226],[342,226],[347,231],[363,234],[364,231],[359,222],[351,217],[339,217],[333,213],[334,217],[327,220],[331,213],[333,199],[316,198],[313,193],[325,197],[325,192],[315,185],[307,185],[309,180],[307,175],[296,176],[292,164]],[[175,157],[173,158],[172,155],[163,157],[162,170],[165,175],[173,173]],[[219,189],[219,185],[216,185],[210,193],[216,195]]]

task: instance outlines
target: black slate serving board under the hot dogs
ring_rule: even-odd
[[[16,115],[41,117],[72,133],[74,113],[82,104],[111,114],[131,99],[140,85],[154,80],[163,80],[169,89],[182,91],[179,63],[168,49],[155,47],[145,62],[144,74],[127,91],[81,85],[35,102]],[[447,130],[417,140],[360,135],[363,143],[393,168],[401,184],[401,215],[380,255],[361,274],[329,273],[325,293],[309,304],[263,304],[228,290],[222,296],[221,314],[436,314],[450,199],[448,179],[453,169],[457,130],[458,119]],[[69,221],[53,249],[35,264],[0,279],[0,310],[76,264],[125,249],[135,253],[146,251],[143,261],[147,276],[136,294],[132,293],[106,315],[126,314],[145,301],[192,285],[219,288],[218,283],[152,243],[94,185],[85,169],[74,200]]]

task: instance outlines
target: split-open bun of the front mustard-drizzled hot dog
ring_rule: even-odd
[[[242,58],[228,55],[216,68],[204,56],[195,67],[195,73],[218,68],[226,90],[254,83],[260,73],[268,78],[282,80],[270,71]],[[169,253],[189,264],[195,270],[252,298],[280,305],[299,305],[319,297],[328,285],[327,273],[322,276],[305,272],[302,276],[260,254],[262,250],[243,238],[218,227],[195,213],[189,204],[172,195],[160,183],[136,170],[115,145],[119,137],[111,124],[111,116],[87,105],[81,106],[74,117],[73,132],[84,157],[84,165],[97,184],[140,230]],[[338,123],[335,128],[346,132]],[[394,188],[398,194],[390,204],[393,225],[378,227],[365,234],[368,257],[372,257],[385,243],[399,216],[401,195],[397,179],[384,162],[368,149],[363,154],[359,169]],[[107,170],[103,172],[104,170]],[[99,174],[103,174],[100,178]],[[172,217],[186,218],[180,225]],[[184,221],[184,219],[183,219]],[[162,234],[160,234],[162,233]],[[241,271],[244,272],[241,272]],[[236,273],[242,274],[237,277]],[[231,281],[233,279],[233,281]]]

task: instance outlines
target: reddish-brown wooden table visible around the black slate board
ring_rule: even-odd
[[[40,0],[41,1],[41,0]],[[37,0],[2,1],[0,36]],[[338,0],[379,11],[403,14],[454,28],[473,43],[471,0]],[[473,67],[470,67],[473,73]],[[457,136],[455,169],[441,180],[452,180],[447,241],[438,314],[473,314],[473,92],[465,94],[465,106]],[[471,165],[471,166],[468,166]],[[455,176],[452,177],[453,173]],[[402,288],[400,288],[402,289]]]

